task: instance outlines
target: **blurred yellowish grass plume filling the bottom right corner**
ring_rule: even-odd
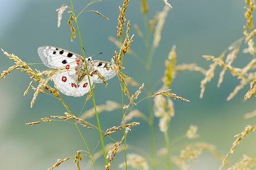
[[[254,157],[248,157],[247,155],[243,155],[243,158],[234,166],[229,167],[226,170],[250,170],[256,168],[256,159]]]

